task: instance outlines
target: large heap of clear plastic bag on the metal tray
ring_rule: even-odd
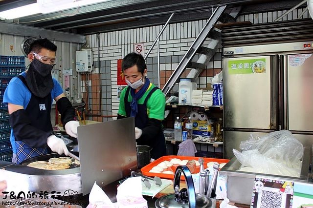
[[[252,167],[253,172],[299,177],[303,145],[288,130],[274,131],[260,137],[250,134],[249,140],[233,152],[242,167]],[[251,169],[248,169],[251,170]]]

